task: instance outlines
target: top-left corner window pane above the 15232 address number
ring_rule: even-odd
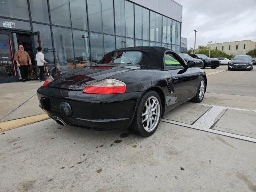
[[[27,0],[1,0],[0,16],[29,20]]]

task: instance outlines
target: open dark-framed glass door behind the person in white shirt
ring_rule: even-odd
[[[33,74],[35,74],[36,79],[38,79],[40,71],[38,66],[36,65],[36,54],[38,53],[38,50],[36,48],[38,47],[42,47],[41,45],[41,39],[40,39],[40,32],[34,32],[32,34],[30,34],[31,39],[32,39],[32,47],[33,47],[33,54],[34,54],[34,62],[32,62],[32,68],[31,68],[31,72]],[[34,65],[33,65],[34,63]]]

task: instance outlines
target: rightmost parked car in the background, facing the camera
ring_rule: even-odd
[[[237,55],[228,64],[228,70],[252,70],[253,62],[250,55]]]

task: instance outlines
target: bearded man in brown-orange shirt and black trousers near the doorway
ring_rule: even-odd
[[[30,65],[32,63],[28,52],[24,51],[24,47],[22,45],[20,45],[19,50],[15,52],[14,60],[16,61],[17,66],[20,69],[22,82],[26,82],[26,76],[28,74],[28,61]]]

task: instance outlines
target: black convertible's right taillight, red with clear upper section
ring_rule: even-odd
[[[100,82],[91,84],[84,88],[84,93],[90,94],[117,94],[126,91],[126,84],[116,79],[106,79]]]

